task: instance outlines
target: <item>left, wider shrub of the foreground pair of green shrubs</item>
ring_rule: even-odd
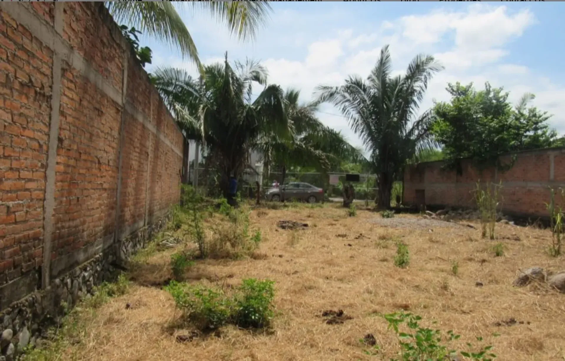
[[[231,312],[231,300],[221,290],[191,286],[171,281],[165,290],[169,292],[178,308],[201,330],[215,329],[224,325]]]

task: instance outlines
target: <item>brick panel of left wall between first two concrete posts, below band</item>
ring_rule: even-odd
[[[115,228],[121,105],[63,64],[55,168],[55,260]]]

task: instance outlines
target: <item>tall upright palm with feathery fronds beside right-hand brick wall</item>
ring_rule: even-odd
[[[393,77],[386,45],[366,80],[349,76],[344,85],[316,88],[316,103],[336,106],[371,155],[379,208],[390,208],[393,182],[402,177],[408,159],[435,145],[429,132],[432,112],[419,116],[418,112],[428,81],[441,69],[433,56],[420,54],[408,64],[405,75]]]

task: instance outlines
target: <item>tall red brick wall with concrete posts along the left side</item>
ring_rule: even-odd
[[[126,44],[101,3],[0,6],[0,295],[40,267],[69,271],[178,202],[182,135]]]

